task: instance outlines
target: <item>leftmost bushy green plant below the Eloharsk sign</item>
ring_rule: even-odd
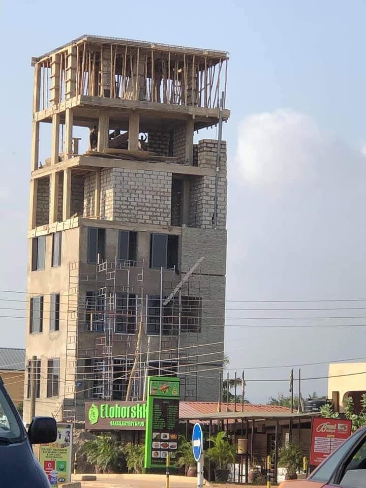
[[[98,436],[85,443],[84,452],[88,463],[94,464],[96,473],[118,472],[121,469],[122,446],[109,436]]]

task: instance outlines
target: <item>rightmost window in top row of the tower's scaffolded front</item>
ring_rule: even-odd
[[[150,237],[150,268],[178,267],[178,236],[167,234],[151,234]]]

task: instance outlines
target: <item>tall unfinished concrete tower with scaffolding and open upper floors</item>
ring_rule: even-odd
[[[226,142],[194,132],[229,117],[227,60],[93,36],[32,59],[37,415],[82,420],[87,400],[141,400],[150,374],[179,375],[181,400],[218,399]]]

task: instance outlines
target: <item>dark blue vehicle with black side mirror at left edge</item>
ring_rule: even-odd
[[[57,437],[52,417],[35,417],[28,432],[0,376],[0,486],[49,488],[46,473],[33,453],[32,444],[47,444]]]

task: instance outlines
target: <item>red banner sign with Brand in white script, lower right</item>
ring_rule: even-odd
[[[351,435],[351,429],[351,420],[314,417],[309,464],[318,466]]]

